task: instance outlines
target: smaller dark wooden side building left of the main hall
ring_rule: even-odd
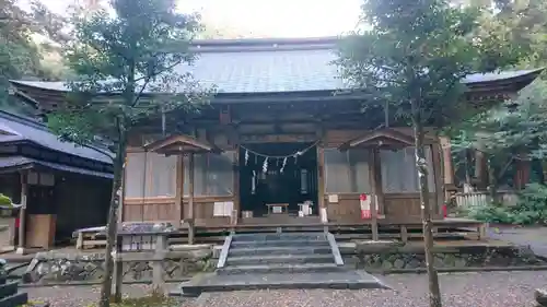
[[[0,111],[0,192],[25,204],[13,219],[11,245],[49,248],[78,228],[105,225],[109,154],[62,142],[42,122]]]

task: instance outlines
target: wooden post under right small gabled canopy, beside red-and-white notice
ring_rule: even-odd
[[[379,239],[377,231],[377,210],[384,212],[384,191],[382,189],[382,162],[380,160],[380,149],[374,147],[370,155],[370,179],[372,184],[372,196],[371,200],[371,229],[372,239]]]

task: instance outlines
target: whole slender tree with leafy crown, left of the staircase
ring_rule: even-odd
[[[48,118],[62,140],[90,144],[98,137],[114,152],[114,180],[107,221],[105,278],[100,306],[109,304],[128,131],[143,120],[183,109],[193,111],[211,91],[199,87],[181,66],[191,62],[190,40],[199,29],[194,15],[177,13],[175,0],[110,0],[74,19],[65,57],[79,80],[68,83],[73,95]],[[114,12],[114,13],[112,13]],[[108,102],[94,99],[107,94]],[[98,149],[97,149],[98,150]],[[120,293],[116,293],[120,299]]]

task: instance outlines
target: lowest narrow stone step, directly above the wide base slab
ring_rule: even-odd
[[[344,270],[335,263],[272,263],[272,264],[242,264],[229,265],[217,270],[219,275],[234,274],[268,274],[268,273],[319,273],[319,272],[337,272]]]

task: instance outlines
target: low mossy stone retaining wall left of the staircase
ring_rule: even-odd
[[[120,255],[123,259],[124,282],[152,281],[153,260],[139,259],[137,252]],[[137,256],[137,257],[136,257]],[[104,253],[83,252],[38,252],[33,259],[23,281],[26,283],[59,282],[98,282],[104,275]],[[209,271],[216,267],[212,258],[212,246],[176,246],[162,260],[165,281],[181,281],[191,278],[198,272]]]

